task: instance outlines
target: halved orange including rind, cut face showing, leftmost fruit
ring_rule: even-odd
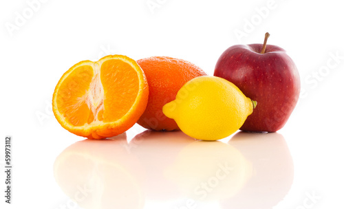
[[[146,109],[148,84],[133,59],[110,55],[71,67],[56,85],[52,109],[58,122],[89,139],[127,131]]]

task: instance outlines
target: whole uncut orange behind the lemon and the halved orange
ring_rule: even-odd
[[[162,106],[174,100],[186,82],[197,76],[206,76],[206,73],[193,63],[167,56],[153,56],[137,62],[147,76],[149,85],[147,108],[138,124],[155,131],[180,130],[174,120],[162,113]]]

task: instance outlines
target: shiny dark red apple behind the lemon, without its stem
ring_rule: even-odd
[[[233,45],[219,57],[214,76],[234,83],[257,107],[242,131],[275,132],[286,124],[297,104],[300,76],[286,51],[275,45]]]

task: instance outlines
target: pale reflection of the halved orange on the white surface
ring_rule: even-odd
[[[83,208],[143,208],[142,166],[126,145],[125,134],[72,144],[56,158],[58,185]]]

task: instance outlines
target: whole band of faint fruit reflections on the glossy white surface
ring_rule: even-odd
[[[127,143],[76,142],[56,158],[56,181],[83,208],[272,208],[293,179],[279,133],[243,133],[203,142],[144,131]]]

